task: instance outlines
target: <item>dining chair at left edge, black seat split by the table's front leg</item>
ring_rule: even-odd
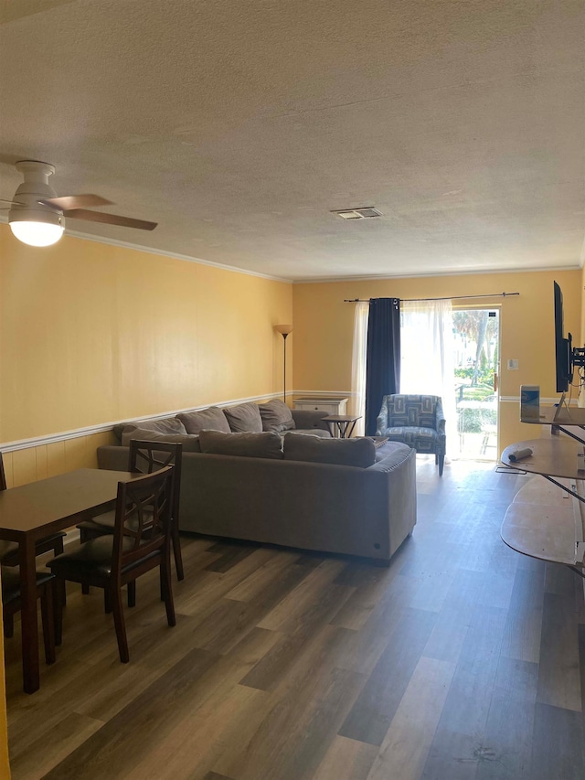
[[[14,636],[14,616],[20,612],[20,572],[15,567],[2,566],[2,616],[4,636]],[[55,610],[61,604],[55,604],[55,576],[50,572],[37,572],[37,598],[40,599],[40,612],[43,624],[43,643],[45,660],[55,662]]]

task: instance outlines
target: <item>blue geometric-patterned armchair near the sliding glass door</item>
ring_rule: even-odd
[[[376,427],[377,436],[409,444],[417,453],[434,453],[442,475],[446,436],[438,395],[385,395]]]

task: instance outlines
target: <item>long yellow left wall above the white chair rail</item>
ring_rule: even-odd
[[[0,225],[0,442],[280,392],[292,311],[287,283]]]

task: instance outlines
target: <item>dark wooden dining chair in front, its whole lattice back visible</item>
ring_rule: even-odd
[[[122,606],[122,587],[152,569],[160,569],[161,598],[168,625],[175,625],[171,583],[173,466],[118,483],[113,533],[83,542],[71,552],[48,561],[57,582],[69,580],[102,588],[112,604],[122,663],[128,663],[128,642]],[[56,620],[61,640],[61,610]]]

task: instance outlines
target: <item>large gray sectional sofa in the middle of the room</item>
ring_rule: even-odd
[[[260,410],[261,431],[256,411],[237,407],[223,410],[231,413],[229,424],[245,427],[250,414],[255,430],[118,426],[120,443],[99,447],[98,465],[126,468],[130,438],[182,440],[181,530],[389,561],[416,523],[416,452],[401,443],[331,438],[323,412],[291,414],[282,401],[270,403]],[[213,419],[223,426],[217,411],[205,412],[189,412],[199,414],[190,420],[179,415],[178,422],[187,431],[198,422],[212,426]],[[279,422],[279,414],[287,420]],[[291,420],[307,427],[282,427]],[[154,427],[161,422],[177,427],[170,421]]]

